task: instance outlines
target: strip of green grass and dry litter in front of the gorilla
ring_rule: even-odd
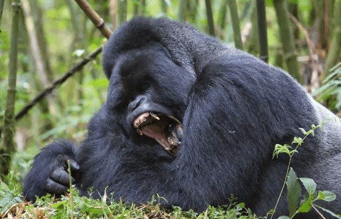
[[[253,219],[249,209],[244,204],[236,204],[232,198],[229,206],[212,207],[202,213],[192,210],[182,211],[180,207],[172,210],[161,207],[158,203],[159,196],[152,197],[147,204],[125,204],[122,200],[112,201],[106,194],[101,200],[94,200],[78,195],[76,189],[69,190],[59,199],[51,195],[44,196],[36,201],[36,204],[22,201],[19,184],[11,183],[11,186],[1,182],[0,184],[0,218],[34,218],[34,219]]]

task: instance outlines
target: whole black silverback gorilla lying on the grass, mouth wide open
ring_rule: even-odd
[[[290,144],[326,118],[335,118],[287,73],[243,51],[227,48],[189,24],[133,18],[103,52],[106,102],[80,146],[59,141],[35,157],[24,181],[27,200],[63,194],[73,182],[81,195],[143,203],[158,193],[163,205],[203,211],[228,204],[230,194],[262,216],[274,207]],[[298,177],[332,190],[341,211],[341,125],[335,119],[308,137],[291,165]],[[285,195],[277,215],[287,215]],[[317,218],[317,215],[300,218]]]

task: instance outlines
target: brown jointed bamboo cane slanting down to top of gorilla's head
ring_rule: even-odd
[[[93,21],[98,30],[104,35],[104,37],[109,38],[112,35],[112,31],[105,25],[104,19],[101,18],[97,12],[91,7],[91,5],[86,0],[75,0],[79,7],[84,11],[86,16]]]

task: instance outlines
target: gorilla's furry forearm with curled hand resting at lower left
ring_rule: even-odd
[[[79,166],[76,163],[76,152],[73,143],[59,141],[44,147],[34,158],[32,168],[24,180],[23,194],[26,200],[35,201],[47,193],[61,195],[69,188],[67,172],[70,160],[72,183],[76,183]]]

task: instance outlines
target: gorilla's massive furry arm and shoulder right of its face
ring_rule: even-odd
[[[230,194],[248,203],[262,186],[259,176],[273,146],[290,142],[298,127],[317,122],[313,115],[297,120],[290,114],[301,115],[312,107],[296,81],[254,57],[237,55],[208,64],[198,76],[174,161],[179,167],[175,176],[192,190],[193,199],[211,204],[227,203]],[[280,191],[277,184],[268,189]]]

